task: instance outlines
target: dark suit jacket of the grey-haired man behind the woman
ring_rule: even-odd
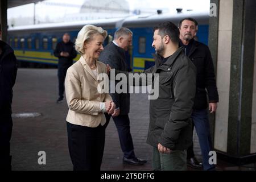
[[[125,50],[115,46],[113,42],[110,42],[104,47],[104,51],[101,52],[99,60],[102,61],[102,63],[109,64],[113,69],[125,72],[131,71],[125,61]],[[113,98],[115,107],[119,107],[120,115],[128,114],[130,111],[130,94],[128,90],[127,93],[110,93],[110,95]]]

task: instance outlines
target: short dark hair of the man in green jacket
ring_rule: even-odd
[[[168,35],[173,43],[179,44],[180,31],[174,23],[160,23],[157,27],[154,27],[154,31],[155,30],[159,30],[158,35],[160,35],[161,38]]]

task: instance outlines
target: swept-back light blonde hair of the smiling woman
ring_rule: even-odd
[[[79,31],[75,43],[76,51],[84,54],[84,43],[90,42],[93,39],[93,36],[96,34],[100,34],[105,39],[108,35],[108,32],[106,30],[103,30],[101,27],[96,27],[92,24],[86,24],[82,29]]]

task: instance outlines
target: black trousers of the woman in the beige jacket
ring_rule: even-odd
[[[93,128],[67,122],[68,148],[74,171],[100,171],[105,129],[105,125]]]

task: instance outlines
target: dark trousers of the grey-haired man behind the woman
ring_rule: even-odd
[[[106,124],[109,123],[111,115],[105,114]],[[117,117],[112,117],[117,127],[119,142],[123,151],[123,156],[125,158],[131,159],[135,158],[133,139],[131,138],[130,132],[130,119],[128,114],[118,115]]]

